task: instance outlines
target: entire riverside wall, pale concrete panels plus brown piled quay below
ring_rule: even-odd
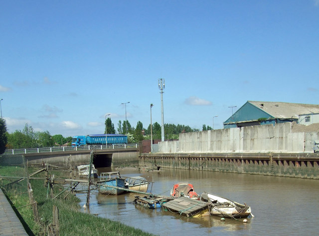
[[[293,132],[291,123],[182,133],[140,155],[140,165],[319,179],[316,140],[319,132]]]

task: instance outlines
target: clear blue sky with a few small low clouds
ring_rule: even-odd
[[[9,133],[202,129],[246,101],[318,104],[319,0],[1,0],[0,98]]]

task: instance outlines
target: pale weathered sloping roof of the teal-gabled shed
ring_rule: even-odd
[[[288,102],[248,101],[275,118],[298,118],[299,115],[319,113],[319,105]]]

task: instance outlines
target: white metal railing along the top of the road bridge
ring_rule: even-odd
[[[118,148],[139,148],[139,144],[108,144],[108,145],[88,145],[79,147],[51,147],[51,148],[27,148],[27,149],[7,149],[4,154],[29,154],[47,152],[66,152],[78,150],[96,149],[118,149]]]

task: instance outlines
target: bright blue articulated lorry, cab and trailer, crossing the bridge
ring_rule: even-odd
[[[86,136],[73,136],[72,146],[84,145],[105,145],[105,137],[107,137],[108,144],[127,144],[128,136],[124,134],[90,134]]]

